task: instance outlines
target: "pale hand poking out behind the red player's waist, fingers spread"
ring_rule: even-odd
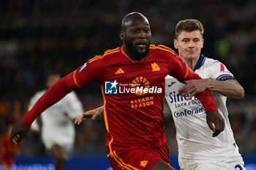
[[[80,123],[83,121],[83,117],[91,118],[92,120],[94,120],[97,117],[100,117],[103,114],[103,112],[103,107],[98,107],[97,109],[89,110],[87,112],[84,112],[83,115],[76,117],[74,123],[80,125]]]

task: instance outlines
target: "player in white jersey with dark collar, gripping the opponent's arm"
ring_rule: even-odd
[[[181,83],[174,77],[165,78],[165,99],[176,125],[178,163],[183,170],[245,169],[226,107],[227,97],[244,97],[244,88],[223,63],[201,54],[203,31],[200,21],[181,20],[176,25],[176,39],[173,40],[178,55],[203,80]],[[211,90],[219,113],[225,119],[225,130],[216,137],[210,135],[203,105],[193,96],[203,90]]]

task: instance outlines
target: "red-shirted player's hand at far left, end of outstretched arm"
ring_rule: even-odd
[[[18,144],[21,139],[29,132],[29,126],[23,123],[22,121],[18,121],[12,127],[12,132],[10,134],[10,142],[12,144]]]

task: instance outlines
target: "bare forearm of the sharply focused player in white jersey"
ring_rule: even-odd
[[[215,91],[223,96],[231,98],[243,98],[244,88],[236,80],[227,80],[225,82],[217,80],[203,80],[206,81],[206,89]]]

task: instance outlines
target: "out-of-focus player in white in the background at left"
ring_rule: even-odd
[[[49,74],[46,81],[47,88],[60,79],[59,74]],[[40,90],[35,93],[29,102],[29,110],[45,92],[46,90]],[[31,130],[37,133],[40,131],[45,148],[53,154],[56,170],[64,169],[65,163],[75,147],[75,125],[72,120],[82,113],[83,104],[76,93],[71,92],[40,115],[41,127],[37,123],[37,119],[31,124]]]

